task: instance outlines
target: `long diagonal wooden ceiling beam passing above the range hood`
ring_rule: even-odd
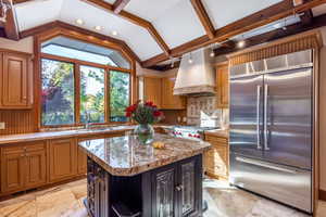
[[[213,39],[210,39],[209,36],[205,35],[171,49],[170,55],[174,58],[180,56],[199,48],[203,48],[215,42],[225,41],[234,36],[241,35],[246,31],[267,25],[280,18],[285,18],[293,14],[300,14],[323,3],[326,3],[326,0],[311,0],[306,3],[293,7],[292,0],[283,0],[279,3],[263,9],[254,14],[217,29]],[[142,67],[151,67],[166,60],[168,60],[168,58],[166,58],[164,54],[159,54],[143,61],[141,65]]]

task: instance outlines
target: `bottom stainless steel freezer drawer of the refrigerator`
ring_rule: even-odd
[[[254,193],[312,213],[311,171],[230,155],[230,182]]]

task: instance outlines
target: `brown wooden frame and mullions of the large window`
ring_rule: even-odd
[[[89,67],[96,67],[96,68],[101,68],[104,69],[105,74],[104,74],[104,122],[103,123],[90,123],[93,126],[101,126],[101,125],[112,125],[112,124],[128,124],[129,122],[111,122],[110,120],[110,72],[111,71],[116,71],[116,72],[121,72],[121,73],[126,73],[129,74],[129,104],[131,104],[133,102],[133,76],[135,76],[134,71],[133,71],[133,64],[130,63],[131,68],[127,69],[127,68],[121,68],[121,67],[115,67],[115,66],[111,66],[111,65],[102,65],[102,64],[98,64],[98,63],[93,63],[93,62],[87,62],[87,61],[82,61],[82,60],[77,60],[77,59],[70,59],[70,58],[64,58],[64,56],[60,56],[60,55],[53,55],[53,54],[48,54],[48,53],[41,53],[40,52],[40,61],[39,63],[41,64],[41,60],[52,60],[52,61],[60,61],[60,62],[66,62],[66,63],[71,63],[74,64],[74,85],[75,85],[75,89],[74,89],[74,124],[71,125],[43,125],[42,124],[42,108],[40,107],[40,127],[41,128],[61,128],[61,127],[80,127],[80,126],[85,126],[85,124],[83,124],[80,122],[80,66],[89,66]],[[40,75],[41,75],[41,66],[40,68]],[[41,76],[40,76],[41,79]],[[41,80],[40,80],[41,81]],[[40,87],[40,91],[41,91],[41,87]]]

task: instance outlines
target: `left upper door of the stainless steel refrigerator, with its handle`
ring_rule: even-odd
[[[230,79],[230,151],[263,155],[263,76]]]

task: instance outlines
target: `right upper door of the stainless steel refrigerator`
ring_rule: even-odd
[[[264,76],[264,159],[311,169],[312,68]]]

